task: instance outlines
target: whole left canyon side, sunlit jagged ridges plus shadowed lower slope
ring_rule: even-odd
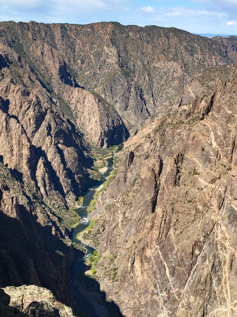
[[[68,204],[88,186],[92,160],[25,59],[2,44],[0,54],[0,286],[44,286],[70,303],[65,226],[78,215]]]

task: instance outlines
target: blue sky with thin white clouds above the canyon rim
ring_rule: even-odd
[[[0,0],[0,20],[44,23],[117,21],[237,34],[237,0]]]

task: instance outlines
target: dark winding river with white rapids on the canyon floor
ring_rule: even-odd
[[[123,145],[120,145],[116,152],[120,151],[122,148]],[[106,177],[109,176],[113,170],[113,155],[114,154],[106,159],[108,162],[108,169],[101,175],[100,181],[98,181],[94,187],[90,188],[83,196],[83,205],[76,210],[81,217],[81,222],[74,228],[71,236],[72,242],[76,242],[86,248],[87,253],[73,262],[68,289],[74,306],[81,309],[88,317],[119,316],[117,308],[112,307],[111,304],[106,302],[105,294],[100,292],[99,283],[85,275],[85,272],[89,269],[89,267],[85,265],[85,261],[93,254],[94,249],[76,239],[77,233],[84,230],[90,223],[90,220],[87,217],[87,207],[93,199],[96,189],[106,181]]]

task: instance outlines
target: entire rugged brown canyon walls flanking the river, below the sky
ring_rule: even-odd
[[[46,292],[39,307],[74,314],[54,302],[71,306],[82,256],[70,240],[76,201],[100,177],[96,159],[126,141],[88,214],[106,300],[125,317],[237,315],[236,62],[235,36],[0,23],[0,287],[10,303]],[[30,296],[19,316],[36,315]]]

